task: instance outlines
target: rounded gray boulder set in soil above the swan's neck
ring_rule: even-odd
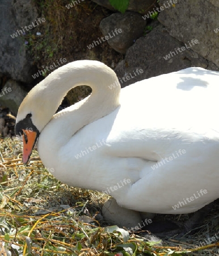
[[[133,12],[115,13],[100,22],[103,35],[111,37],[107,40],[108,44],[120,53],[125,53],[143,35],[145,26],[146,20]],[[118,31],[117,34],[115,31]]]

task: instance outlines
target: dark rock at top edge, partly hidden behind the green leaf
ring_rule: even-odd
[[[106,7],[109,10],[117,11],[112,7],[109,0],[92,0],[92,1],[95,3],[98,3],[98,5]],[[148,11],[154,8],[156,3],[157,3],[157,0],[130,0],[127,10],[135,11],[136,13],[146,14],[148,13]]]

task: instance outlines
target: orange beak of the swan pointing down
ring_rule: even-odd
[[[36,131],[23,130],[23,163],[26,164],[31,156],[36,142]]]

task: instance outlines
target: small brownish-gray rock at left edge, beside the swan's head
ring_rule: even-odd
[[[17,114],[26,94],[27,92],[20,87],[18,82],[10,79],[0,90],[0,104],[7,106],[14,114]]]

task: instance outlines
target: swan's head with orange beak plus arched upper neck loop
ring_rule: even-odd
[[[71,88],[89,85],[93,94],[90,104],[99,100],[103,116],[119,106],[120,86],[112,90],[111,84],[114,87],[119,81],[116,73],[107,65],[94,60],[78,60],[56,69],[33,87],[20,105],[16,117],[15,133],[23,136],[23,163],[28,162],[41,131],[50,122]],[[87,105],[87,110],[89,108],[90,105]],[[100,117],[98,113],[96,116],[92,113],[89,118],[90,121],[86,120],[87,122]]]

